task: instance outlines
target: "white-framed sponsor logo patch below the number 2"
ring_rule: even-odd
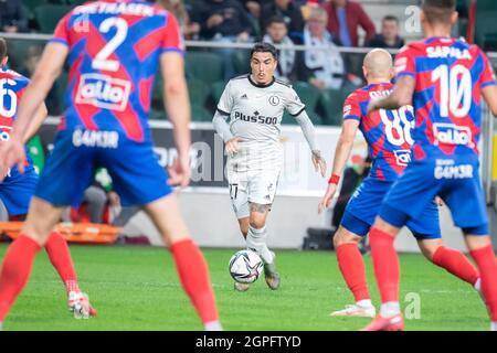
[[[83,74],[77,87],[76,104],[123,111],[128,104],[131,84],[102,74]]]

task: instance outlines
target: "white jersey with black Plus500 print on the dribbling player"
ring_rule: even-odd
[[[244,139],[236,156],[228,159],[229,173],[282,168],[279,135],[285,109],[298,116],[305,105],[283,81],[273,78],[271,84],[258,85],[250,75],[243,75],[228,83],[218,111],[230,117],[231,133]]]

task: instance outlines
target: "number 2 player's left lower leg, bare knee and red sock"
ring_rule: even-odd
[[[9,246],[0,272],[0,324],[21,293],[31,274],[34,257],[46,243],[61,217],[61,208],[33,197],[21,235]]]

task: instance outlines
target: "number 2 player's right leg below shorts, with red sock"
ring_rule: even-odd
[[[208,331],[222,330],[205,259],[190,238],[179,212],[177,196],[170,194],[145,206],[176,261],[184,291]]]

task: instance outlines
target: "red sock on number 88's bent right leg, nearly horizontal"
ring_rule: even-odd
[[[433,254],[433,264],[445,268],[447,272],[475,285],[479,272],[463,253],[441,246]]]

